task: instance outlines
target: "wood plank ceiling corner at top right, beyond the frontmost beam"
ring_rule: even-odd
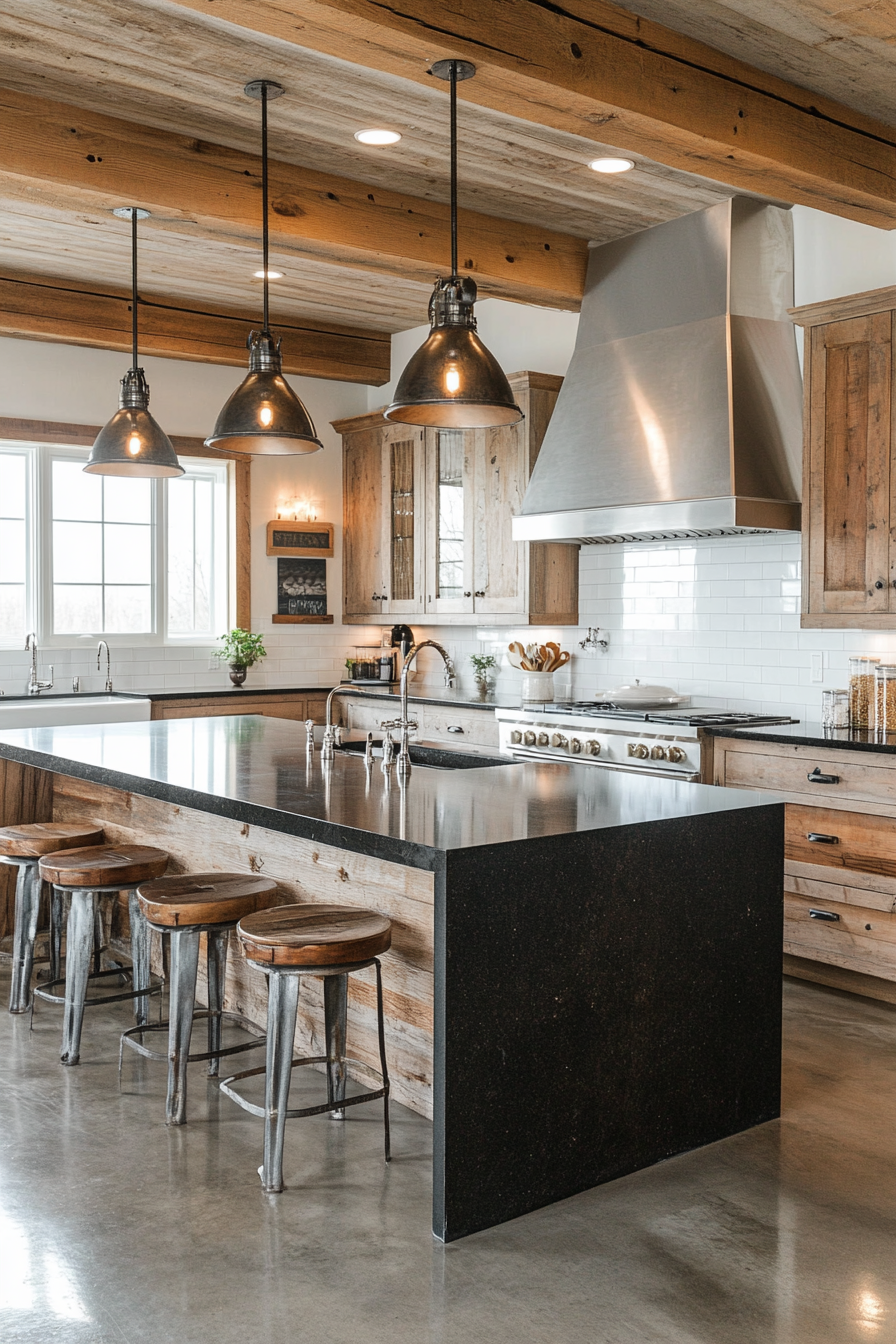
[[[617,0],[760,70],[896,125],[893,0]]]

